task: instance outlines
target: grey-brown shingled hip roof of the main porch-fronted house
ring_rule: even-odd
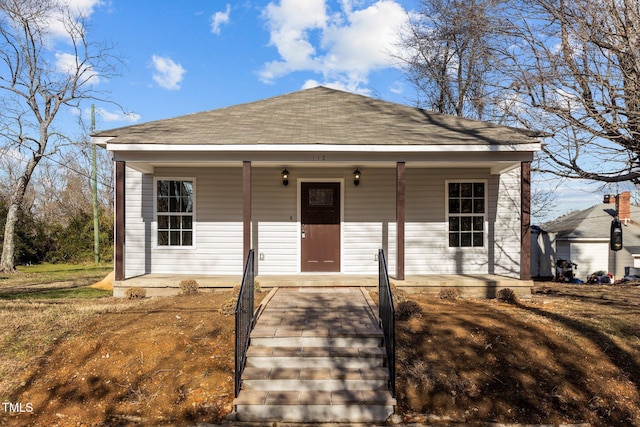
[[[92,136],[109,144],[518,145],[544,135],[315,87]]]

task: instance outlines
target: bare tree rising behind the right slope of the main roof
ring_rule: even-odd
[[[447,114],[493,118],[498,9],[503,0],[422,0],[404,31],[400,58],[418,104]]]

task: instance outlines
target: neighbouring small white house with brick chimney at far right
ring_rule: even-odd
[[[620,251],[610,249],[616,216],[622,224]],[[631,193],[626,191],[605,195],[601,204],[544,224],[532,233],[532,275],[549,276],[547,266],[553,266],[554,274],[557,260],[571,260],[577,264],[575,276],[585,282],[598,271],[622,278],[626,267],[640,267],[640,225],[633,221],[639,216],[640,207],[631,204]]]

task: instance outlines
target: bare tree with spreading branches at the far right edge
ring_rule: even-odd
[[[554,136],[539,170],[640,182],[640,3],[526,0],[509,9],[504,57],[520,123]]]

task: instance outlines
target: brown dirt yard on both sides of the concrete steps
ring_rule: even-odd
[[[640,288],[535,291],[517,304],[410,295],[417,305],[397,323],[404,420],[640,426]],[[219,311],[230,298],[157,298],[89,316],[3,393],[23,412],[0,408],[0,424],[221,422],[233,400],[234,320]]]

